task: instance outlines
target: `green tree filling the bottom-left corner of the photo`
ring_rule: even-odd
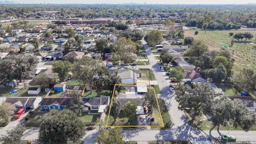
[[[0,142],[2,144],[19,144],[21,143],[21,137],[23,136],[23,132],[25,132],[25,127],[18,126],[14,127],[12,130],[7,130],[7,134],[0,137]]]

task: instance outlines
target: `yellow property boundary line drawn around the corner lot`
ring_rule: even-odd
[[[137,82],[137,83],[144,83],[144,82]],[[157,107],[158,107],[158,111],[159,111],[159,114],[161,116],[161,120],[162,120],[162,124],[163,125],[108,125],[108,120],[109,120],[110,110],[111,110],[111,106],[112,106],[113,99],[114,99],[116,85],[121,85],[121,86],[137,86],[135,84],[115,84],[114,91],[113,91],[112,98],[111,98],[111,103],[110,103],[109,111],[108,111],[108,119],[107,119],[107,123],[106,123],[107,127],[164,127],[164,121],[163,121],[163,117],[162,117],[162,114],[161,114],[161,111],[160,111],[160,107],[159,107],[159,104],[158,104],[158,100],[157,100],[157,97],[156,97],[156,92],[155,92],[155,88],[154,87],[147,87],[147,89],[153,89],[153,91],[154,91],[155,98],[156,98],[156,103],[157,103]]]

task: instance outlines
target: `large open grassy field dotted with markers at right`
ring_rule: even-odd
[[[197,30],[198,35],[194,35],[196,30],[186,30],[185,37],[191,36],[195,39],[203,40],[210,50],[220,51],[220,47],[223,45],[228,46],[230,54],[232,53],[234,62],[233,70],[236,73],[241,68],[252,68],[256,70],[256,48],[252,43],[255,43],[256,30],[206,30],[204,33],[203,30]],[[231,39],[233,37],[229,36],[230,32],[244,33],[249,31],[253,34],[252,39],[248,39],[245,42],[245,39],[242,42],[234,41],[234,45],[229,47],[231,44]]]

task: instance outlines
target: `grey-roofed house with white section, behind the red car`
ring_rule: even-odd
[[[41,100],[41,97],[9,97],[5,102],[11,103],[17,109],[34,109],[37,108]]]

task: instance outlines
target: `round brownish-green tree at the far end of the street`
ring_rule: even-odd
[[[148,35],[146,35],[145,41],[149,46],[155,46],[163,41],[163,34],[159,30],[152,30]]]

